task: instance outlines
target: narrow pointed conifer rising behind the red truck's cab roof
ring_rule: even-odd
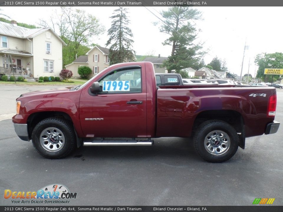
[[[109,39],[106,43],[106,46],[111,44],[109,49],[110,65],[132,62],[135,59],[135,52],[132,47],[134,41],[131,39],[133,33],[127,27],[129,24],[127,13],[126,8],[119,7],[119,9],[114,10],[114,15],[110,17],[112,24],[110,29],[108,29]]]

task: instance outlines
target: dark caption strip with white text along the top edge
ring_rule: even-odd
[[[283,6],[278,0],[26,0],[3,1],[0,6]]]

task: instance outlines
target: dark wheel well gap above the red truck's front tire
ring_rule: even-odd
[[[27,119],[28,133],[30,139],[32,135],[32,130],[34,129],[35,125],[37,125],[38,122],[50,117],[60,117],[65,120],[71,121],[73,123],[71,117],[65,112],[57,112],[57,111],[35,112],[29,115]]]

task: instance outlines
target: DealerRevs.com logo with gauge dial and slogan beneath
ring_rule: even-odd
[[[47,185],[38,191],[4,191],[4,198],[12,203],[70,203],[69,199],[77,198],[77,193],[70,193],[64,185]]]

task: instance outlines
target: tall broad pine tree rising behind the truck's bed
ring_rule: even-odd
[[[200,45],[193,44],[197,30],[190,21],[200,19],[200,12],[192,7],[174,6],[162,11],[161,14],[165,20],[160,32],[170,35],[163,45],[172,46],[171,55],[162,66],[166,67],[168,73],[172,70],[178,73],[187,67],[197,67],[202,53],[199,52]]]

